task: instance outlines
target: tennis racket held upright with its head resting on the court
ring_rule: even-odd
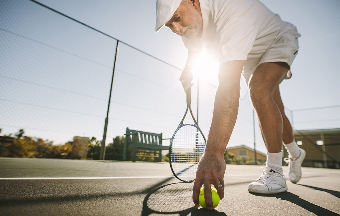
[[[203,155],[206,140],[191,110],[191,84],[187,88],[187,108],[183,119],[169,145],[169,163],[173,175],[184,182],[192,182],[196,177],[198,163]],[[194,124],[184,124],[190,111]]]

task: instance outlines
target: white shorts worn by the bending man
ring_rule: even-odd
[[[250,76],[254,73],[257,66],[265,62],[286,62],[289,67],[293,63],[297,51],[299,50],[299,41],[301,37],[297,33],[296,27],[289,22],[282,22],[281,28],[277,33],[274,41],[270,44],[265,53],[251,54],[251,58],[245,62],[243,77],[248,85]],[[285,79],[292,76],[289,70]]]

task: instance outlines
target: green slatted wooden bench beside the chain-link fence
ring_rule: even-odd
[[[126,161],[126,149],[133,148],[132,162],[136,162],[137,148],[153,149],[158,151],[158,162],[162,162],[162,150],[168,150],[169,146],[162,145],[162,133],[150,133],[126,128],[123,161]]]

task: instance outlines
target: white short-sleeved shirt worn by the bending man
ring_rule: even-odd
[[[258,0],[199,1],[202,37],[182,40],[189,53],[204,51],[220,64],[265,53],[282,23],[277,14]]]

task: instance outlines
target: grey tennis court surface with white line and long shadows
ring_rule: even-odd
[[[0,158],[1,215],[339,215],[340,171],[303,167],[276,195],[248,193],[260,166],[226,165],[225,198],[195,208],[168,163]],[[287,166],[284,166],[287,173]]]

